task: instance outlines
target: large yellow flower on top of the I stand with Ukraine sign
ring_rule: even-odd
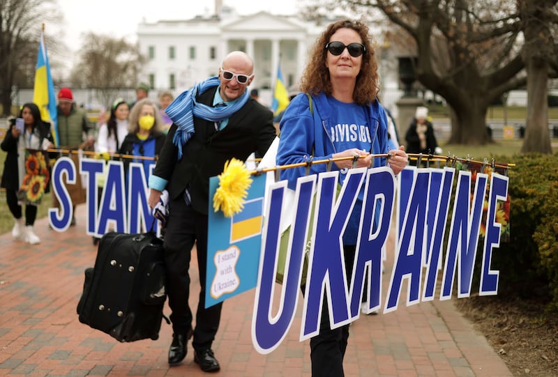
[[[225,162],[223,173],[218,178],[219,186],[213,195],[213,210],[222,210],[225,217],[232,217],[244,208],[243,202],[252,184],[250,172],[242,161],[232,158]]]

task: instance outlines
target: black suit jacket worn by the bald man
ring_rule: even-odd
[[[197,101],[212,105],[218,88],[201,93]],[[273,113],[252,98],[229,118],[223,130],[217,131],[215,123],[197,116],[194,128],[195,134],[183,146],[178,160],[178,148],[172,142],[176,124],[171,126],[153,174],[168,181],[171,200],[183,195],[188,187],[193,208],[207,214],[209,178],[221,174],[232,157],[245,161],[252,152],[263,156],[276,136],[276,128]]]

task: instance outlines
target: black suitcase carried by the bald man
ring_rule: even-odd
[[[106,233],[85,270],[80,322],[119,341],[159,337],[165,292],[163,240],[155,233]]]

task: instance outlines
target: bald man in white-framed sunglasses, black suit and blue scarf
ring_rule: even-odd
[[[250,56],[231,52],[218,76],[197,84],[195,91],[182,93],[166,110],[173,124],[149,178],[149,205],[156,206],[161,192],[168,190],[165,261],[174,332],[170,365],[180,364],[186,357],[186,343],[193,335],[194,361],[203,371],[220,369],[211,344],[223,304],[205,308],[209,178],[221,174],[225,162],[233,157],[246,160],[251,153],[262,157],[276,136],[272,112],[246,90],[253,72]],[[193,122],[186,116],[188,111],[193,111]],[[188,268],[194,245],[201,291],[192,328]]]

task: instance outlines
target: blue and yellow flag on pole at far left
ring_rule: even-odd
[[[54,145],[57,146],[59,137],[56,95],[54,94],[54,82],[52,82],[52,76],[50,75],[50,64],[48,63],[47,46],[45,45],[43,32],[40,33],[39,53],[37,57],[37,66],[35,68],[33,102],[40,109],[40,118],[45,122],[50,122]]]

